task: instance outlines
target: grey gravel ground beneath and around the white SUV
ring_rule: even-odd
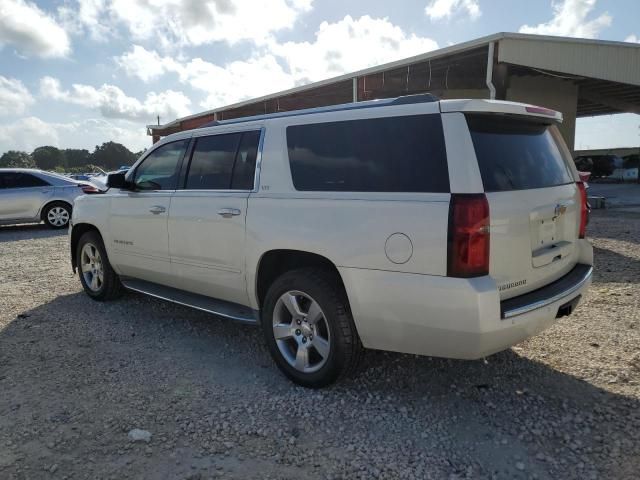
[[[371,351],[309,391],[258,329],[95,303],[64,234],[0,228],[0,478],[638,478],[640,215],[590,234],[590,297],[544,334],[475,362]]]

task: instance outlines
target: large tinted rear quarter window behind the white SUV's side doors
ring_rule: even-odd
[[[297,190],[448,192],[440,115],[287,128]]]

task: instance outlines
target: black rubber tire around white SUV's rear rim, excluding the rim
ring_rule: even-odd
[[[324,278],[331,278],[323,275]],[[325,282],[322,282],[325,283]],[[320,370],[313,373],[303,373],[289,365],[283,357],[273,335],[273,312],[278,299],[287,291],[297,290],[313,298],[322,309],[330,332],[330,350],[327,362]],[[278,278],[271,286],[263,304],[261,328],[271,356],[282,372],[295,383],[309,388],[320,388],[332,383],[345,367],[344,342],[338,316],[345,315],[346,305],[341,299],[339,290],[330,289],[320,282],[309,278],[303,271],[292,271]],[[340,299],[340,300],[338,300]],[[338,301],[337,301],[338,300]]]

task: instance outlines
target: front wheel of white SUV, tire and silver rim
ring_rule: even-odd
[[[98,232],[91,231],[82,235],[75,255],[80,283],[89,297],[103,302],[118,298],[122,294],[120,278],[109,263],[107,251]]]

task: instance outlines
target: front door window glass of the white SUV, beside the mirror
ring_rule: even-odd
[[[149,154],[136,168],[133,183],[138,190],[172,190],[178,181],[178,165],[189,140],[167,143]]]

